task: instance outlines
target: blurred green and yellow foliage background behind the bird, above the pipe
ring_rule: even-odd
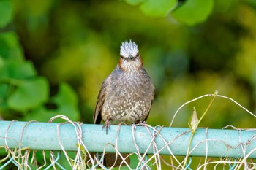
[[[0,115],[93,123],[99,88],[129,39],[156,86],[149,124],[170,125],[181,104],[215,90],[254,112],[255,9],[252,0],[1,0]],[[193,107],[200,117],[209,101],[188,104],[173,125],[188,127]],[[200,125],[229,124],[255,119],[216,98]]]

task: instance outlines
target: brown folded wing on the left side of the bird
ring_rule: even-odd
[[[102,112],[103,104],[105,102],[106,88],[109,84],[109,81],[110,81],[110,76],[107,77],[105,79],[105,81],[102,83],[102,88],[99,91],[99,95],[98,95],[98,98],[97,98],[97,104],[96,104],[96,107],[94,109],[94,123],[95,124],[99,124],[100,121],[102,120],[101,112]]]

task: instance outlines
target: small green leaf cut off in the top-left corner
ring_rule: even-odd
[[[10,1],[0,1],[0,28],[4,28],[12,20],[12,4]]]

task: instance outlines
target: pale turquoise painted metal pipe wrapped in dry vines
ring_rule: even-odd
[[[57,125],[59,125],[59,139],[64,150],[78,150],[77,134],[71,123],[0,121],[0,146],[17,148],[20,144],[21,148],[29,147],[31,150],[61,150]],[[132,127],[134,135],[132,135]],[[106,152],[115,152],[110,144],[115,145],[117,140],[119,152],[138,152],[139,150],[140,153],[144,153],[150,146],[147,152],[154,154],[157,152],[152,147],[154,145],[152,141],[154,141],[159,154],[170,155],[172,152],[173,155],[186,155],[191,136],[189,128],[111,125],[108,134],[105,129],[102,130],[102,125],[83,124],[81,129],[83,143],[90,152],[102,152],[104,148]],[[152,140],[154,134],[157,136]],[[133,136],[135,136],[138,150],[136,150]],[[169,150],[165,147],[166,144],[169,144]],[[193,150],[194,147],[195,150]],[[206,148],[209,157],[256,158],[256,131],[199,128],[192,139],[190,155],[205,156]]]

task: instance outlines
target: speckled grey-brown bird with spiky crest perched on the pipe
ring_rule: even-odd
[[[102,125],[106,134],[110,125],[145,123],[154,100],[154,85],[144,69],[138,45],[132,40],[120,46],[116,69],[102,83],[94,109],[94,123]],[[121,154],[129,163],[127,154]],[[105,166],[120,166],[123,159],[116,154],[105,155]]]

